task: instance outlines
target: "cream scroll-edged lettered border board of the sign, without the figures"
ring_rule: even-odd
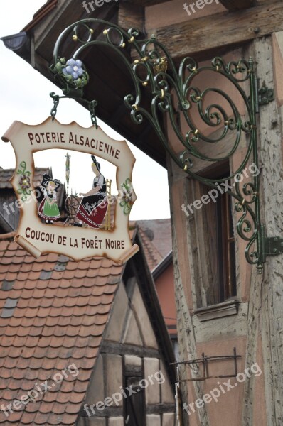
[[[131,190],[129,209],[125,209],[127,199],[116,202],[114,226],[109,230],[99,227],[93,229],[90,226],[63,226],[62,223],[50,226],[38,216],[38,202],[33,196],[33,153],[53,148],[95,155],[98,160],[103,158],[117,168],[117,188],[129,183],[132,187],[135,158],[126,141],[116,141],[100,128],[86,129],[75,122],[65,125],[57,120],[52,121],[51,117],[36,126],[14,121],[2,140],[10,141],[16,154],[16,169],[11,183],[21,206],[21,217],[14,239],[32,256],[38,258],[42,253],[52,252],[75,261],[102,256],[116,263],[124,263],[139,251],[137,244],[132,245],[129,235],[129,210],[137,198],[134,190]],[[28,191],[23,185],[23,175],[29,176]]]

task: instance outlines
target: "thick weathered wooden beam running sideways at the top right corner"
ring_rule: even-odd
[[[239,45],[283,30],[282,1],[245,11],[191,19],[164,28],[156,36],[173,58],[196,55],[223,45]]]

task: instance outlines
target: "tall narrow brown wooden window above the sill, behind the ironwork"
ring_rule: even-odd
[[[219,304],[237,295],[232,198],[224,190],[223,194],[214,190],[211,197],[211,190],[190,180],[191,205],[204,200],[192,205],[189,217],[197,307]]]

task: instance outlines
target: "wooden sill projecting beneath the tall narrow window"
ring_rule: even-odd
[[[198,316],[201,322],[208,320],[216,320],[217,318],[229,317],[230,315],[237,315],[237,308],[239,305],[238,300],[228,300],[217,305],[199,307],[193,311]]]

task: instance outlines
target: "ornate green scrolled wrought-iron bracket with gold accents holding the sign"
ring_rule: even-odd
[[[95,30],[103,26],[104,38],[95,39]],[[80,35],[84,33],[85,36]],[[159,136],[159,140],[168,151],[175,163],[191,178],[209,187],[219,190],[221,184],[235,199],[237,212],[236,229],[239,236],[246,241],[245,256],[247,262],[256,264],[261,272],[265,262],[265,235],[260,226],[259,175],[254,174],[241,184],[240,176],[247,165],[251,163],[258,170],[257,158],[257,129],[256,112],[258,109],[257,77],[255,76],[252,58],[249,60],[231,61],[225,63],[222,58],[214,58],[211,65],[199,67],[192,58],[184,58],[176,67],[168,50],[154,36],[142,39],[139,31],[131,28],[124,31],[113,23],[90,18],[73,23],[60,34],[54,48],[53,66],[56,74],[56,64],[65,64],[61,49],[65,40],[73,38],[78,43],[74,48],[73,59],[80,59],[85,49],[93,46],[110,48],[124,63],[133,83],[133,92],[125,94],[124,104],[135,124],[141,124],[144,119],[149,121]],[[109,52],[110,50],[108,50]],[[131,59],[134,52],[135,60]],[[99,64],[97,64],[99,66]],[[227,80],[230,85],[228,94],[217,87],[199,89],[200,77],[208,73],[206,82],[217,82],[219,78]],[[62,80],[62,72],[59,72]],[[63,91],[67,97],[83,99],[85,87],[70,87],[68,81],[63,82]],[[269,90],[269,89],[268,89]],[[246,92],[250,92],[248,97]],[[142,99],[151,96],[151,108],[145,109]],[[233,100],[232,94],[236,98]],[[217,103],[210,103],[213,95]],[[264,92],[267,99],[272,99],[272,93]],[[260,98],[262,99],[262,98]],[[95,102],[95,101],[93,101]],[[198,118],[196,119],[196,113]],[[171,147],[163,121],[160,115],[166,115],[173,132],[178,137],[183,148],[176,153]],[[243,118],[245,117],[245,118]],[[181,130],[187,126],[184,133]],[[201,129],[211,129],[214,132],[203,132]],[[229,139],[229,144],[225,141]],[[245,155],[240,165],[225,178],[205,178],[198,171],[197,165],[207,165],[229,161],[232,165],[233,154],[245,144]],[[203,147],[209,147],[206,151]],[[221,148],[222,146],[222,148]],[[220,148],[219,148],[220,147]],[[222,153],[223,147],[226,152]],[[225,151],[225,150],[224,150]],[[205,162],[205,163],[204,163]],[[228,188],[228,182],[232,182]]]

